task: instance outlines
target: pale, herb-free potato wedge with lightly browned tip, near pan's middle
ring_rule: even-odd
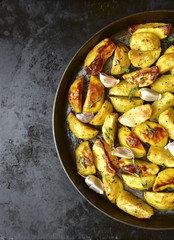
[[[118,121],[127,127],[135,127],[147,121],[152,114],[152,107],[150,104],[134,107],[125,112],[118,118]]]

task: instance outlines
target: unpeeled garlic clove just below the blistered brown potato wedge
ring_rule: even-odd
[[[140,93],[141,99],[148,101],[148,102],[160,100],[160,98],[162,97],[161,93],[158,93],[155,90],[150,89],[150,88],[141,88],[139,90],[139,93]]]

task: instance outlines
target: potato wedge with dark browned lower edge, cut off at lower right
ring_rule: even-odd
[[[174,168],[167,168],[158,173],[153,185],[153,191],[162,191],[169,187],[174,189]]]

